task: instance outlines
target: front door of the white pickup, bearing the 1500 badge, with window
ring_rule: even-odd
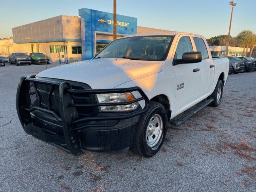
[[[174,59],[182,59],[185,52],[193,52],[190,36],[180,35],[175,47]],[[199,64],[178,64],[173,67],[176,75],[176,96],[173,114],[178,114],[191,106],[198,94]],[[194,71],[193,71],[194,70]]]

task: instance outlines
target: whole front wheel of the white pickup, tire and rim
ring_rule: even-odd
[[[131,150],[140,156],[156,154],[166,135],[167,115],[164,106],[150,102],[148,110],[141,114],[132,142]]]

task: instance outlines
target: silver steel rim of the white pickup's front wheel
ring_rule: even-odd
[[[152,116],[146,130],[146,141],[148,146],[154,147],[158,144],[163,132],[163,120],[159,114]]]

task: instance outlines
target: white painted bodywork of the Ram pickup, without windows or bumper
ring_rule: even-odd
[[[172,111],[170,118],[174,118],[210,96],[222,74],[224,75],[221,80],[226,83],[229,60],[228,58],[213,60],[203,36],[180,32],[139,34],[135,36],[149,35],[174,35],[166,60],[92,59],[51,68],[40,72],[36,77],[84,82],[92,89],[139,86],[149,99],[158,95],[165,95],[168,98]],[[203,39],[208,58],[200,63],[173,65],[179,39],[183,36],[190,38],[193,51],[197,51],[193,37]],[[195,68],[200,70],[193,72]],[[183,87],[177,89],[179,86]],[[136,93],[134,94],[137,97]],[[144,107],[143,102],[140,102],[140,105],[142,108]]]

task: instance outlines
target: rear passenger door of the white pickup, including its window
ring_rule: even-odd
[[[198,100],[204,98],[210,94],[214,80],[214,62],[209,57],[209,52],[206,48],[206,42],[200,37],[193,36],[193,41],[196,47],[196,51],[201,52],[202,61],[199,63],[200,68],[200,80],[198,90]]]

